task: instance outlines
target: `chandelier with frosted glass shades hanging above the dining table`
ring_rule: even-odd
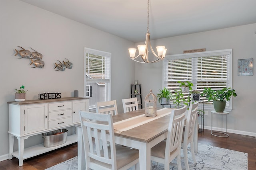
[[[150,36],[150,33],[149,33],[149,0],[148,0],[148,30],[146,33],[146,41],[145,41],[144,45],[138,45],[139,55],[137,55],[136,57],[135,57],[135,53],[136,53],[137,49],[133,49],[133,48],[128,49],[129,53],[130,53],[130,58],[132,60],[134,60],[138,63],[155,63],[155,62],[158,62],[158,61],[161,61],[162,59],[164,59],[167,49],[165,48],[165,46],[157,46],[156,50],[157,50],[158,55],[156,55],[156,53],[154,52],[154,50],[152,49],[152,46],[150,44],[149,36]],[[151,49],[153,55],[156,57],[156,59],[154,61],[148,60],[149,48]],[[141,58],[142,61],[135,60],[138,57]]]

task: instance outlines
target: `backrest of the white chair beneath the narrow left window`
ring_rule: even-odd
[[[96,102],[95,105],[97,113],[112,113],[112,115],[117,115],[116,100]]]

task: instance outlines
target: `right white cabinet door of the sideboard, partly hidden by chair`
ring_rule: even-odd
[[[80,122],[79,110],[87,110],[87,100],[78,100],[73,102],[73,123]]]

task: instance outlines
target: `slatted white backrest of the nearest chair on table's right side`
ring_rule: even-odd
[[[186,109],[187,106],[172,110],[166,138],[165,157],[167,160],[170,157],[170,152],[181,147]]]

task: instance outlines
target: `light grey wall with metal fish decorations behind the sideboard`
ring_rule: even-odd
[[[89,16],[84,16],[89,17]],[[14,49],[32,47],[43,55],[44,68],[31,68],[29,59],[18,59]],[[84,47],[112,53],[112,99],[118,112],[122,98],[129,98],[135,64],[128,47],[134,43],[88,27],[19,0],[0,0],[0,161],[8,154],[8,101],[15,89],[25,86],[26,100],[40,92],[60,92],[62,97],[84,94]],[[54,63],[67,58],[72,69],[55,71]],[[125,77],[125,78],[124,78]],[[42,142],[42,137],[26,139],[25,147]]]

